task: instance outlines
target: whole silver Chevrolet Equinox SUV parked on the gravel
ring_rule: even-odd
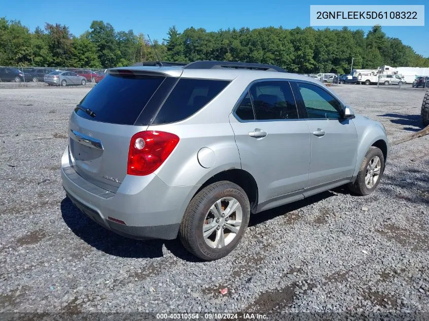
[[[372,193],[388,154],[379,122],[261,64],[110,69],[69,127],[61,176],[77,207],[127,237],[179,235],[203,260],[233,251],[250,213],[344,184]]]

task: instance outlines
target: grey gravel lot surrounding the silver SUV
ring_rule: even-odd
[[[421,129],[424,94],[393,87],[334,90],[391,141]],[[392,147],[372,195],[339,188],[259,213],[236,251],[198,262],[65,198],[68,119],[89,89],[0,89],[0,311],[429,313],[429,136]]]

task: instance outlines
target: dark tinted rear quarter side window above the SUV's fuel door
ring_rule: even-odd
[[[179,80],[156,115],[153,124],[173,123],[188,118],[202,109],[228,83],[224,80]]]

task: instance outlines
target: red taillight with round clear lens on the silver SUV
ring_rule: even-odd
[[[141,131],[131,137],[128,152],[128,175],[154,172],[179,142],[179,137],[164,131]]]

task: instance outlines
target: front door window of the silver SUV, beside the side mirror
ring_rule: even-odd
[[[303,97],[308,118],[341,118],[341,104],[337,99],[318,86],[306,83],[297,83],[297,85]]]

